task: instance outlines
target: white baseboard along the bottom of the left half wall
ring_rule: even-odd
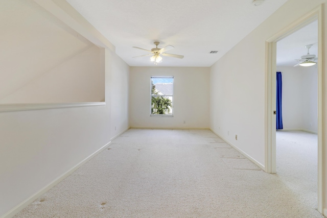
[[[20,210],[22,210],[25,207],[27,207],[29,204],[31,204],[33,201],[35,201],[38,197],[42,196],[46,191],[49,191],[51,188],[53,188],[55,185],[57,185],[59,182],[61,182],[63,179],[65,179],[67,176],[71,175],[74,171],[76,171],[76,169],[78,169],[84,163],[86,163],[91,158],[93,158],[94,156],[96,156],[97,154],[99,154],[100,152],[102,152],[103,150],[105,150],[109,146],[110,143],[111,143],[111,141],[109,141],[107,144],[105,144],[105,146],[103,146],[102,148],[100,148],[95,153],[91,154],[90,156],[88,156],[87,158],[85,158],[84,160],[82,160],[80,163],[78,163],[72,169],[69,169],[69,171],[67,171],[66,173],[64,173],[61,176],[57,177],[50,184],[46,185],[45,187],[43,187],[42,189],[40,189],[38,192],[36,192],[33,196],[29,197],[25,201],[21,202],[20,204],[18,204],[17,206],[15,206],[11,210],[9,210],[5,214],[3,214],[0,218],[11,218],[14,215],[16,215]]]

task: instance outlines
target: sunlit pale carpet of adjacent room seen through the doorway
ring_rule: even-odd
[[[276,132],[277,175],[302,203],[314,209],[318,205],[317,164],[317,134],[303,131]]]

